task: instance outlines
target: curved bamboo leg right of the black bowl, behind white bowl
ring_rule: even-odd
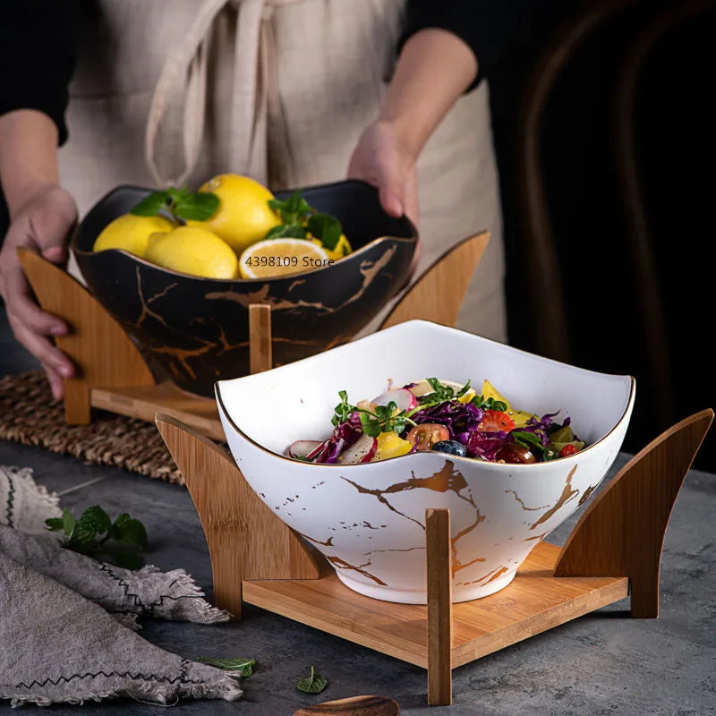
[[[490,232],[483,231],[440,256],[396,303],[379,330],[415,319],[455,326],[465,291],[489,241]]]

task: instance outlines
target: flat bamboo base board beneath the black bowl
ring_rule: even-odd
[[[184,422],[214,440],[226,442],[213,398],[192,396],[166,380],[153,386],[91,388],[90,404],[111,413],[154,423],[157,413]]]

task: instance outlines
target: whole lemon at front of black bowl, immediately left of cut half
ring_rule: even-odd
[[[238,266],[228,243],[197,226],[179,226],[168,234],[153,234],[145,258],[173,271],[207,278],[234,278]]]

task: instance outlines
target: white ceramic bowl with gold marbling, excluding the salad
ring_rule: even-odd
[[[339,390],[357,402],[437,377],[489,379],[517,408],[567,414],[589,447],[532,465],[420,452],[364,465],[314,465],[282,455],[326,439]],[[268,507],[315,545],[356,592],[424,604],[428,507],[450,510],[453,599],[498,592],[530,550],[609,471],[634,405],[629,376],[584,371],[486,338],[414,320],[322,354],[217,383],[226,439]]]

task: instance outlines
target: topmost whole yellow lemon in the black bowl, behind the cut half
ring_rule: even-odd
[[[218,175],[203,184],[199,191],[216,194],[218,209],[206,221],[188,221],[188,226],[201,226],[213,231],[237,255],[281,224],[277,214],[268,206],[268,200],[274,195],[249,176]]]

